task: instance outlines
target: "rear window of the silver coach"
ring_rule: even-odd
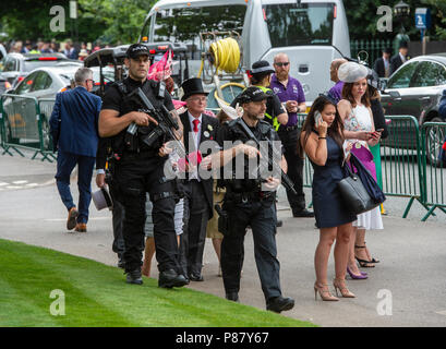
[[[334,3],[264,5],[272,46],[332,45],[334,11]]]

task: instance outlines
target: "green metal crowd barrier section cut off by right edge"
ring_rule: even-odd
[[[446,122],[425,122],[422,124],[423,203],[430,207],[427,214],[421,219],[422,221],[434,215],[436,208],[446,213],[446,161],[441,158],[441,149],[445,139]]]

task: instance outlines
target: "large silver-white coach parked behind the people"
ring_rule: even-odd
[[[314,100],[334,83],[332,60],[350,57],[350,38],[341,0],[160,0],[149,11],[140,41],[188,45],[189,77],[201,67],[201,32],[236,31],[241,35],[242,65],[286,52],[290,74]]]

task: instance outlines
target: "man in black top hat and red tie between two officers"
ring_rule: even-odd
[[[213,216],[213,179],[202,179],[197,166],[202,157],[200,145],[215,141],[218,132],[218,120],[204,113],[208,93],[203,89],[201,79],[194,77],[183,82],[188,111],[180,115],[184,125],[184,147],[190,154],[191,169],[184,180],[184,215],[189,221],[181,237],[181,258],[183,272],[191,281],[203,281],[203,252],[206,240],[207,220]]]

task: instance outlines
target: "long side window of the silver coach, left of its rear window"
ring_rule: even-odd
[[[243,29],[245,5],[215,5],[159,10],[155,19],[154,41],[184,43],[190,59],[201,59],[201,32]],[[146,26],[143,31],[147,31]],[[148,36],[148,33],[142,33]]]

